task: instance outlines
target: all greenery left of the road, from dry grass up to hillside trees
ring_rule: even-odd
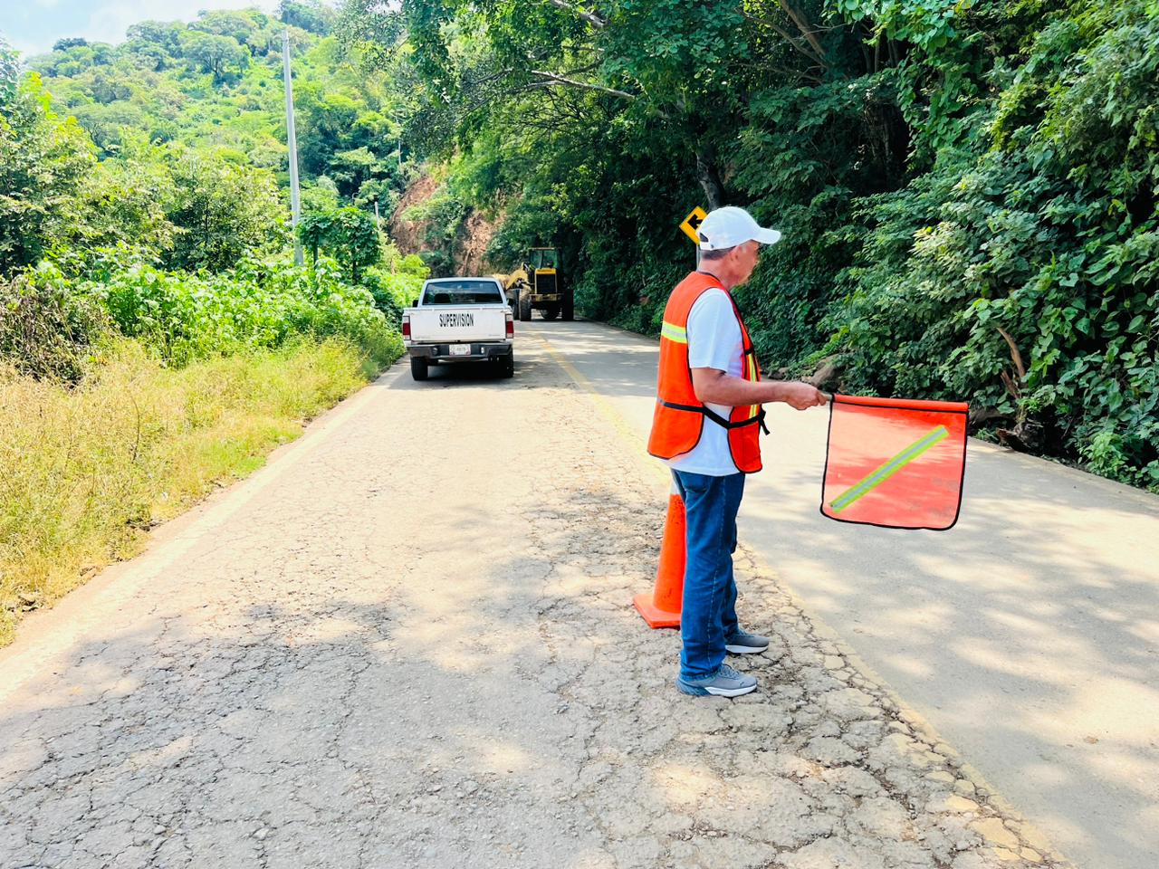
[[[0,643],[402,352],[428,270],[372,213],[407,181],[403,103],[342,60],[333,9],[286,0],[278,17],[141,22],[27,70],[0,42]]]

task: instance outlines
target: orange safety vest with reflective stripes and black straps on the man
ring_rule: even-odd
[[[688,314],[707,290],[724,287],[712,275],[694,271],[672,291],[664,308],[664,324],[659,333],[659,377],[656,386],[656,410],[653,415],[648,452],[659,459],[675,459],[700,443],[705,417],[715,425],[728,429],[729,452],[737,470],[752,474],[760,470],[759,432],[765,428],[765,410],[760,404],[732,408],[726,419],[697,397],[692,388],[692,368],[688,366]],[[726,291],[729,301],[732,295]],[[760,380],[757,355],[744,328],[741,311],[732,301],[736,321],[741,326],[741,375],[745,380]]]

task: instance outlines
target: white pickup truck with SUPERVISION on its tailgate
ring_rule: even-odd
[[[431,365],[486,362],[502,377],[515,374],[515,323],[503,285],[495,278],[433,278],[415,307],[402,312],[402,342],[410,375],[425,380]]]

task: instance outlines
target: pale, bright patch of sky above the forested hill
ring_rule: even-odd
[[[138,21],[192,21],[202,9],[272,12],[277,0],[0,0],[0,35],[24,57],[66,36],[119,43]]]

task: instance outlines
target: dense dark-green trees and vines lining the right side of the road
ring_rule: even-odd
[[[413,64],[444,236],[502,214],[496,264],[555,243],[655,333],[677,224],[746,205],[785,232],[738,293],[766,368],[1159,490],[1154,0],[350,0],[338,32]]]

